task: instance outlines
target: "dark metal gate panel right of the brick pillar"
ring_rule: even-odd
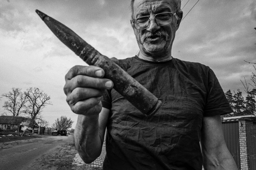
[[[247,127],[250,169],[256,169],[256,126]]]

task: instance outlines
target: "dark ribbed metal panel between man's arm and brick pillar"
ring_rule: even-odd
[[[240,168],[240,146],[238,121],[222,122],[224,139],[237,167]]]

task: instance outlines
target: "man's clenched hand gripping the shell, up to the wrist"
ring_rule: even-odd
[[[113,82],[103,78],[104,74],[104,70],[96,66],[74,66],[68,71],[64,92],[74,113],[85,116],[100,113],[103,92],[113,88]]]

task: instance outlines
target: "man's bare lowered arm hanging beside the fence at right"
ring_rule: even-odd
[[[201,150],[205,170],[238,169],[225,143],[220,115],[203,118]]]

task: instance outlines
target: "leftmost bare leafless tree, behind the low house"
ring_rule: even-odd
[[[20,88],[12,88],[12,91],[2,94],[7,98],[4,102],[3,108],[13,114],[13,116],[19,116],[23,112],[25,103],[27,102],[27,96],[21,92]]]

